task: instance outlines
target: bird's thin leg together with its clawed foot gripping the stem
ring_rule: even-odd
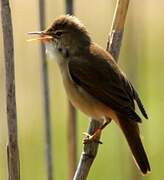
[[[111,119],[105,118],[104,123],[98,129],[96,129],[96,131],[93,133],[93,135],[90,135],[90,134],[84,132],[83,134],[85,135],[85,138],[83,139],[83,144],[87,144],[87,143],[90,143],[90,142],[96,142],[96,143],[102,144],[102,142],[99,140],[99,137],[101,135],[102,130],[110,122],[111,122]]]

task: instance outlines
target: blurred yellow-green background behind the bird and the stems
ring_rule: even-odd
[[[27,32],[39,30],[38,1],[10,1],[14,28],[16,98],[22,180],[45,180],[45,144],[39,42],[26,42]],[[104,48],[111,27],[116,0],[75,1],[75,14],[86,25],[92,38]],[[149,120],[141,125],[142,139],[152,172],[142,177],[119,128],[111,123],[102,136],[104,144],[89,174],[89,180],[161,180],[164,177],[164,1],[130,2],[120,66],[135,84]],[[64,14],[65,1],[46,0],[46,24]],[[4,57],[0,27],[0,179],[7,179]],[[67,100],[59,70],[48,60],[54,174],[67,179]],[[82,132],[88,118],[78,112],[78,157],[82,151]]]

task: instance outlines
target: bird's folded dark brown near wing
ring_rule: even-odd
[[[89,94],[127,118],[141,121],[134,111],[131,88],[126,88],[128,81],[110,56],[106,61],[103,56],[88,54],[71,59],[68,67],[72,79]]]

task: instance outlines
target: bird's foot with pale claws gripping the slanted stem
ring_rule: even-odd
[[[86,132],[84,132],[83,135],[85,135],[85,137],[83,139],[83,144],[88,144],[91,142],[102,144],[102,142],[99,140],[99,137],[101,135],[101,129],[97,129],[93,135],[90,135]]]

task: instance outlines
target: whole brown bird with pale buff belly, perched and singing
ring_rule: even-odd
[[[72,104],[89,117],[104,123],[85,141],[95,140],[114,120],[122,129],[134,159],[143,174],[150,165],[142,145],[134,101],[147,119],[138,93],[114,58],[90,38],[84,25],[73,16],[61,16],[39,34],[46,52],[56,57],[64,87]]]

